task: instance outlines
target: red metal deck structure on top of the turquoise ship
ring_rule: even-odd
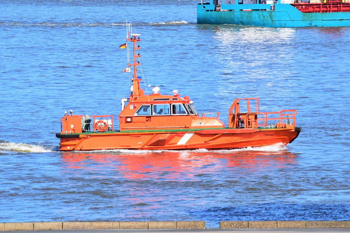
[[[326,1],[325,3],[292,3],[302,13],[350,12],[350,3],[341,1]]]

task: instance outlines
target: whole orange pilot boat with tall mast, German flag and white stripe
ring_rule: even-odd
[[[193,101],[174,95],[162,95],[159,86],[145,95],[140,88],[137,66],[141,57],[137,52],[140,34],[128,32],[127,43],[133,45],[132,87],[129,98],[121,99],[119,131],[113,129],[112,115],[70,115],[61,119],[61,151],[136,149],[136,150],[191,150],[205,148],[221,150],[258,147],[277,143],[291,143],[300,133],[295,125],[296,110],[260,112],[258,98],[236,99],[229,109],[229,125],[225,128],[219,112],[198,114]],[[126,47],[126,44],[123,45]]]

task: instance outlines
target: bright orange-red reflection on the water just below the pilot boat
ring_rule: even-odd
[[[227,169],[264,170],[297,163],[297,156],[286,150],[276,152],[231,151],[102,151],[65,152],[62,160],[71,169],[117,171],[126,179],[182,181]]]

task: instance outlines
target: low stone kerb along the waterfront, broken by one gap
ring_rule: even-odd
[[[220,229],[350,228],[350,221],[220,221]],[[92,229],[205,229],[205,221],[0,223],[0,231]]]

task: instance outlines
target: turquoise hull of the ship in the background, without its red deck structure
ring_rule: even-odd
[[[272,6],[274,7],[274,10]],[[197,5],[198,24],[238,24],[259,27],[350,26],[350,12],[302,13],[287,3]]]

